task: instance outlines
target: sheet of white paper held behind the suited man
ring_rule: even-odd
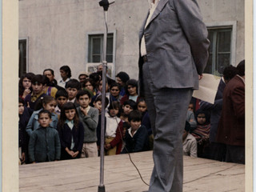
[[[193,97],[214,104],[220,77],[213,74],[202,74],[199,80],[199,90],[194,90]]]

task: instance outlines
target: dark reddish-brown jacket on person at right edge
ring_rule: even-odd
[[[224,89],[216,140],[230,146],[245,146],[245,83],[238,75]]]

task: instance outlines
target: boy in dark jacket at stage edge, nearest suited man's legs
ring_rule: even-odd
[[[129,130],[126,130],[126,146],[122,154],[134,153],[148,150],[148,134],[145,126],[141,126],[142,114],[133,110],[128,116],[130,122]]]

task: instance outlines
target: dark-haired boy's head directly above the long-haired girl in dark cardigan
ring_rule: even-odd
[[[75,98],[75,96],[78,94],[78,90],[81,88],[80,82],[76,79],[70,79],[69,82],[66,83],[66,92],[68,94],[68,100],[67,102],[73,102],[75,106],[78,107],[78,102]]]

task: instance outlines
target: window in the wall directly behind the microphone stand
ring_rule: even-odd
[[[102,63],[103,58],[103,36],[104,34],[88,34],[88,55],[86,70],[89,73],[97,71],[97,66]],[[106,39],[106,62],[107,74],[114,78],[114,47],[115,33],[109,33]]]

